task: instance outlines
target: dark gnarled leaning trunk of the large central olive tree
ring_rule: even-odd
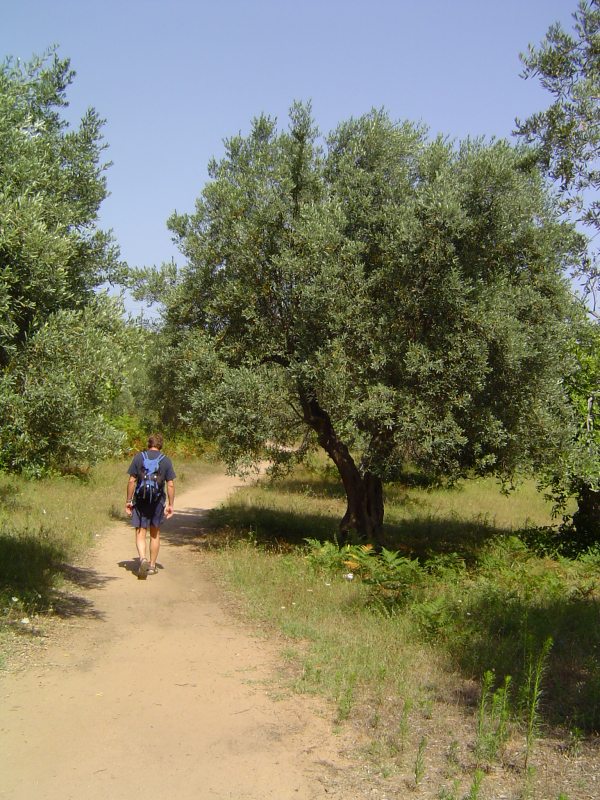
[[[316,432],[319,444],[338,468],[348,507],[340,522],[340,531],[346,538],[355,530],[360,538],[382,543],[383,486],[381,478],[372,472],[361,474],[346,445],[338,438],[331,419],[314,397],[300,388],[304,419]]]

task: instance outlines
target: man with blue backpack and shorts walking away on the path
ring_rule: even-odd
[[[139,574],[155,575],[160,547],[160,526],[173,516],[176,478],[171,459],[161,453],[164,439],[160,433],[148,437],[148,449],[138,453],[127,470],[125,511],[135,528],[135,543],[140,556]],[[168,502],[165,507],[165,486]],[[146,558],[146,531],[150,528],[150,562]]]

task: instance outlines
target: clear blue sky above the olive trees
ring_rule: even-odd
[[[323,132],[372,107],[432,134],[509,136],[549,103],[519,52],[576,0],[0,0],[0,55],[51,44],[77,72],[69,119],[106,118],[114,165],[101,223],[132,265],[177,255],[222,140],[312,99]]]

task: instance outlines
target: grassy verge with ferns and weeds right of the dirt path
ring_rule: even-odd
[[[526,546],[550,523],[533,485],[396,487],[382,555],[332,543],[342,511],[332,477],[299,471],[213,515],[215,568],[288,637],[293,687],[359,725],[397,791],[594,796],[600,554]]]

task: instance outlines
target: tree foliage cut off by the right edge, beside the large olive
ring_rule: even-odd
[[[600,233],[600,0],[582,2],[573,14],[574,29],[551,25],[539,47],[521,59],[525,78],[537,77],[550,92],[545,111],[517,121],[517,134],[533,145],[532,157],[558,187],[563,212],[591,228],[589,249],[573,277],[583,286],[589,313],[598,321],[600,270],[594,239]],[[575,496],[578,510],[563,526],[567,544],[582,549],[600,542],[600,401],[598,330],[589,327],[574,347],[577,369],[570,396],[577,415],[569,454],[550,472],[559,506]]]

